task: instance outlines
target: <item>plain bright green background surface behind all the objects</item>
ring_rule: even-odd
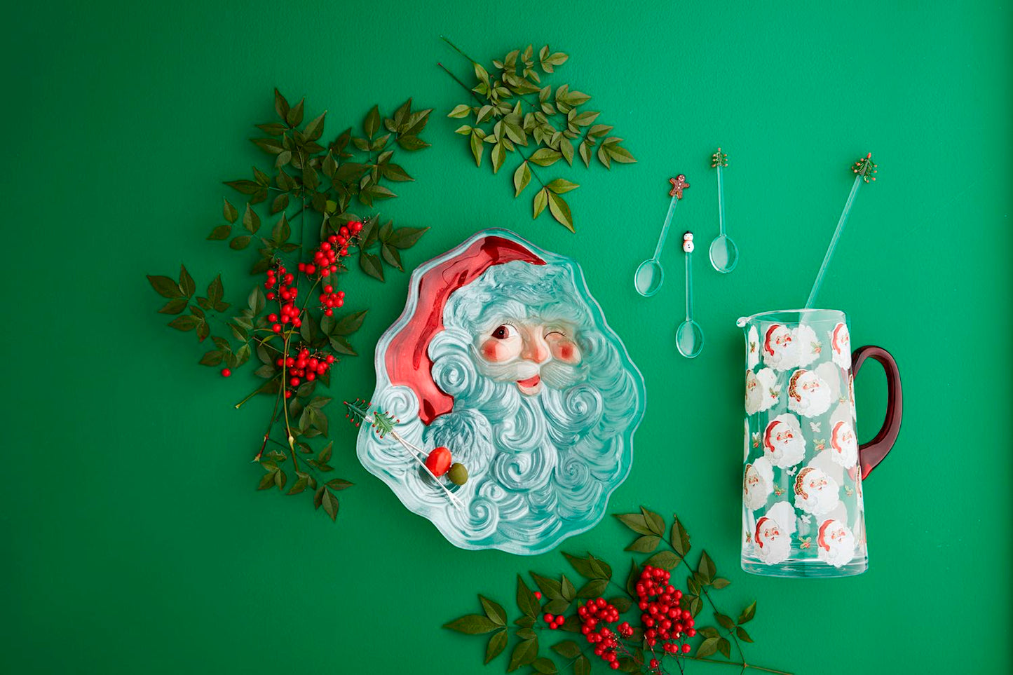
[[[5,21],[14,302],[3,670],[496,673],[505,657],[483,670],[484,642],[440,625],[478,610],[476,592],[516,615],[516,572],[568,570],[558,550],[524,558],[447,543],[359,466],[340,415],[333,463],[357,485],[336,524],[306,495],[254,490],[248,460],[270,403],[232,405],[256,383],[253,368],[224,379],[198,366],[204,349],[164,327],[144,275],[184,261],[199,287],[222,273],[227,299],[245,297],[253,253],[203,239],[222,197],[238,198],[221,181],[268,166],[246,139],[271,119],[277,85],[306,95],[309,116],[329,110],[325,139],[373,103],[389,114],[411,95],[437,108],[423,134],[433,148],[401,157],[416,182],[382,204],[396,224],[433,228],[404,255],[409,270],[485,226],[580,261],[648,390],[636,461],[610,512],[679,513],[732,582],[718,604],[737,614],[759,600],[750,662],[1009,672],[1009,6],[141,4],[21,3]],[[549,81],[591,93],[639,160],[542,171],[581,183],[567,196],[576,235],[531,220],[531,188],[513,199],[513,158],[504,175],[475,168],[453,134],[459,122],[444,117],[466,96],[436,63],[462,77],[469,67],[440,34],[484,61],[529,42],[570,55]],[[729,154],[726,209],[743,255],[729,276],[705,252],[717,145]],[[819,304],[847,311],[854,344],[890,350],[904,377],[901,438],[865,490],[871,568],[831,581],[752,577],[738,569],[734,319],[804,302],[848,166],[869,150],[880,179],[859,194]],[[658,295],[643,299],[631,283],[677,172],[692,188],[676,228],[701,242],[707,345],[692,362],[674,347],[678,244]],[[336,398],[372,391],[372,345],[400,313],[407,280],[348,278],[346,306],[370,313],[354,340],[363,356],[336,371]],[[867,439],[884,406],[877,367],[857,388]],[[561,549],[620,570],[627,542],[610,518]]]

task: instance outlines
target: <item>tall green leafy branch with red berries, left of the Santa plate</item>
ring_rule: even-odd
[[[230,376],[256,355],[260,366],[255,375],[264,381],[240,400],[241,407],[257,394],[275,397],[274,408],[267,420],[263,440],[253,457],[263,469],[259,489],[284,490],[298,495],[311,491],[314,507],[321,507],[336,518],[338,500],[336,493],[352,483],[342,478],[328,478],[334,470],[330,465],[331,444],[319,452],[310,441],[328,435],[328,419],[324,411],[330,402],[326,396],[316,395],[318,385],[329,386],[329,366],[322,372],[307,374],[298,366],[300,378],[293,377],[295,355],[306,353],[310,359],[325,359],[327,364],[337,363],[338,357],[356,356],[348,336],[363,323],[366,311],[352,311],[338,315],[333,308],[324,310],[321,305],[311,307],[311,299],[321,285],[319,276],[297,272],[300,262],[312,262],[311,248],[315,244],[316,227],[306,232],[307,212],[319,214],[319,239],[333,242],[334,248],[343,248],[335,259],[337,275],[327,277],[326,284],[336,286],[339,276],[346,272],[341,257],[348,250],[358,249],[360,268],[381,281],[384,265],[403,271],[401,252],[413,246],[427,228],[394,228],[391,221],[380,224],[379,214],[365,219],[352,213],[355,201],[372,207],[375,202],[395,197],[387,186],[391,182],[412,180],[405,169],[393,160],[395,149],[415,151],[428,144],[419,138],[428,120],[430,109],[412,110],[409,98],[392,117],[383,119],[379,108],[373,106],[363,122],[363,136],[347,129],[325,148],[319,139],[323,135],[326,111],[303,125],[304,100],[295,105],[276,89],[275,110],[280,122],[257,125],[265,136],[251,141],[265,153],[274,156],[270,173],[253,167],[252,179],[230,180],[226,184],[248,197],[242,208],[224,201],[222,217],[208,236],[212,240],[228,240],[233,250],[244,250],[254,244],[258,259],[251,274],[282,277],[288,271],[292,280],[286,284],[299,291],[301,306],[296,321],[279,323],[278,314],[285,314],[285,300],[280,293],[268,299],[263,287],[274,288],[276,281],[261,284],[258,281],[249,291],[246,303],[232,316],[224,312],[233,307],[224,300],[225,289],[221,276],[208,286],[204,296],[197,295],[197,284],[185,267],[180,267],[178,280],[165,276],[149,276],[152,288],[166,303],[159,310],[172,314],[169,326],[180,331],[193,331],[200,343],[210,339],[214,349],[205,353],[200,363],[218,367],[225,364],[222,374]],[[381,128],[388,133],[381,135]],[[385,184],[386,183],[386,184]],[[271,197],[269,214],[264,214],[258,204]],[[296,209],[290,212],[291,209]],[[298,208],[297,208],[298,207]],[[269,232],[261,228],[262,217],[277,218]],[[298,241],[293,241],[292,218],[299,218]],[[353,223],[362,222],[362,229],[354,232]],[[329,237],[333,237],[330,239]],[[269,275],[268,275],[269,277]],[[329,291],[327,291],[329,293]],[[343,295],[342,295],[343,298]],[[186,312],[188,309],[188,313]],[[213,334],[212,325],[221,323],[227,328],[222,334]],[[233,342],[235,341],[235,342]],[[283,433],[279,440],[277,428]],[[268,445],[270,448],[268,449]],[[300,463],[299,455],[306,455]],[[291,469],[285,462],[292,461]]]

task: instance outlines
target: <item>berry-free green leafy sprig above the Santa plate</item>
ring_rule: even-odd
[[[538,53],[538,67],[532,45],[523,51],[514,50],[502,60],[494,60],[486,69],[446,38],[443,39],[461,56],[471,62],[475,85],[468,86],[443,64],[439,64],[458,84],[469,91],[474,104],[456,105],[447,117],[474,118],[456,133],[468,137],[475,166],[481,166],[485,146],[491,146],[490,165],[497,173],[506,154],[517,152],[521,163],[514,170],[514,197],[518,198],[534,177],[542,185],[533,199],[532,218],[538,218],[548,207],[550,215],[561,225],[574,231],[573,216],[562,195],[579,185],[565,178],[545,182],[532,168],[552,166],[560,159],[573,165],[575,154],[585,166],[591,166],[592,155],[599,163],[611,168],[612,162],[635,162],[633,155],[620,144],[622,138],[609,136],[612,127],[596,124],[599,113],[580,106],[591,100],[588,94],[571,89],[568,84],[555,88],[542,85],[541,73],[552,74],[556,66],[568,60],[562,52],[551,52],[548,46]],[[521,149],[533,144],[529,154]],[[576,149],[574,149],[576,143]],[[597,151],[596,151],[597,147]]]

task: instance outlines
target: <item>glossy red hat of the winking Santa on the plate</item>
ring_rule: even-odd
[[[545,265],[545,260],[523,243],[499,236],[484,236],[472,242],[418,280],[418,303],[408,322],[390,341],[386,365],[390,383],[403,385],[418,398],[418,417],[428,426],[454,408],[454,398],[442,391],[433,379],[428,349],[433,338],[443,330],[443,313],[450,294],[467,286],[494,265],[524,260]]]

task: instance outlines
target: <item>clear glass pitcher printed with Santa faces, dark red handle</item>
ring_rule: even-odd
[[[897,362],[878,347],[852,353],[848,317],[794,309],[738,319],[746,331],[743,569],[769,577],[865,572],[862,480],[901,430]],[[858,445],[855,375],[886,372],[886,420]]]

